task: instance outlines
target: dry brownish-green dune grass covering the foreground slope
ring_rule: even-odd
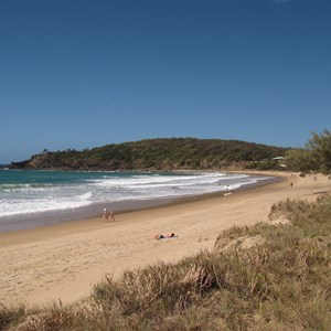
[[[109,278],[71,306],[2,307],[0,329],[331,330],[331,196],[280,202],[280,218],[290,224],[233,227],[213,252]]]

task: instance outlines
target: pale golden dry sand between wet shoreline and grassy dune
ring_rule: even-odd
[[[106,276],[116,278],[127,269],[212,249],[223,229],[268,221],[274,203],[287,197],[312,201],[331,190],[327,177],[284,178],[282,182],[224,196],[122,213],[116,215],[115,223],[103,222],[100,215],[2,233],[0,303],[31,307],[77,300]],[[178,237],[153,238],[171,232]]]

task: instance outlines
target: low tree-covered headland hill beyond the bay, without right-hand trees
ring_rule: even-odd
[[[233,164],[270,162],[288,149],[238,140],[160,138],[106,145],[83,151],[44,150],[12,169],[179,170],[224,169]]]

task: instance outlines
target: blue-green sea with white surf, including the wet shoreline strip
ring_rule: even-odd
[[[263,184],[269,177],[0,170],[0,232],[134,210]]]

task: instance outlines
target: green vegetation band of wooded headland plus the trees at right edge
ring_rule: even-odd
[[[280,162],[281,160],[281,162]],[[10,169],[35,170],[288,170],[331,173],[331,132],[312,132],[305,148],[282,148],[241,140],[159,138],[67,149],[12,162]]]

